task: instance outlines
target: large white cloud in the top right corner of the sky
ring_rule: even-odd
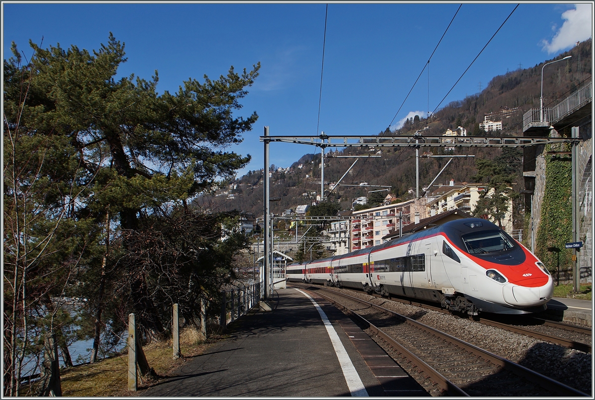
[[[554,35],[552,42],[543,40],[541,45],[548,54],[574,46],[576,42],[587,40],[591,36],[591,4],[575,4],[574,9],[562,12],[565,20],[562,27]]]

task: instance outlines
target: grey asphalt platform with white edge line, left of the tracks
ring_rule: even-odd
[[[256,307],[230,324],[230,337],[143,397],[429,396],[320,296],[295,287],[277,292],[273,311]]]

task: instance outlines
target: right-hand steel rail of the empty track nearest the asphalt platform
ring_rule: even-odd
[[[401,315],[397,312],[388,310],[387,308],[380,307],[379,305],[375,305],[371,302],[368,302],[368,301],[365,301],[362,299],[358,299],[356,297],[346,295],[344,293],[335,292],[334,290],[328,290],[328,289],[324,289],[324,288],[319,288],[318,290],[326,290],[328,292],[335,293],[339,296],[343,296],[343,297],[348,298],[352,301],[356,301],[356,302],[360,302],[362,304],[368,305],[369,307],[372,307],[378,311],[385,312],[385,313],[387,313],[389,315],[393,315],[394,317],[397,317],[397,318],[401,318],[401,319],[405,320],[408,324],[411,324],[412,326],[419,327],[422,330],[425,330],[426,332],[431,332],[434,335],[440,337],[441,339],[446,340],[447,342],[455,343],[462,349],[465,349],[466,351],[471,352],[472,354],[477,355],[478,357],[484,358],[484,360],[490,361],[490,363],[493,363],[494,365],[498,365],[499,367],[505,368],[506,370],[509,370],[518,376],[524,377],[525,379],[530,380],[530,382],[536,383],[537,385],[541,386],[541,388],[556,392],[561,396],[590,397],[589,395],[581,392],[580,390],[577,390],[577,389],[571,388],[570,386],[564,385],[563,383],[558,382],[557,380],[551,379],[551,378],[549,378],[545,375],[542,375],[536,371],[530,370],[527,367],[523,367],[522,365],[516,364],[511,360],[507,360],[506,358],[500,357],[499,355],[493,354],[485,349],[479,348],[475,345],[472,345],[471,343],[468,343],[468,342],[465,342],[464,340],[458,339],[455,336],[451,336],[447,333],[441,332],[440,330],[434,329],[431,326],[427,326],[426,324],[422,324],[421,322],[412,320],[411,318],[405,317],[405,315]]]

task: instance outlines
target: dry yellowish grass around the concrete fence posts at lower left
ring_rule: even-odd
[[[150,388],[160,380],[170,377],[189,357],[202,354],[217,337],[204,342],[195,329],[183,329],[180,333],[181,358],[174,360],[172,343],[154,343],[143,347],[149,367],[158,375],[155,379],[139,377],[139,390],[128,390],[128,355],[108,358],[95,364],[79,365],[61,372],[63,396],[142,396],[143,389]]]

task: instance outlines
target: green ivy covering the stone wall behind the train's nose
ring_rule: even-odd
[[[546,186],[541,204],[541,218],[536,235],[536,255],[552,274],[572,268],[572,249],[565,243],[572,242],[572,162],[570,156],[550,155],[546,151]]]

